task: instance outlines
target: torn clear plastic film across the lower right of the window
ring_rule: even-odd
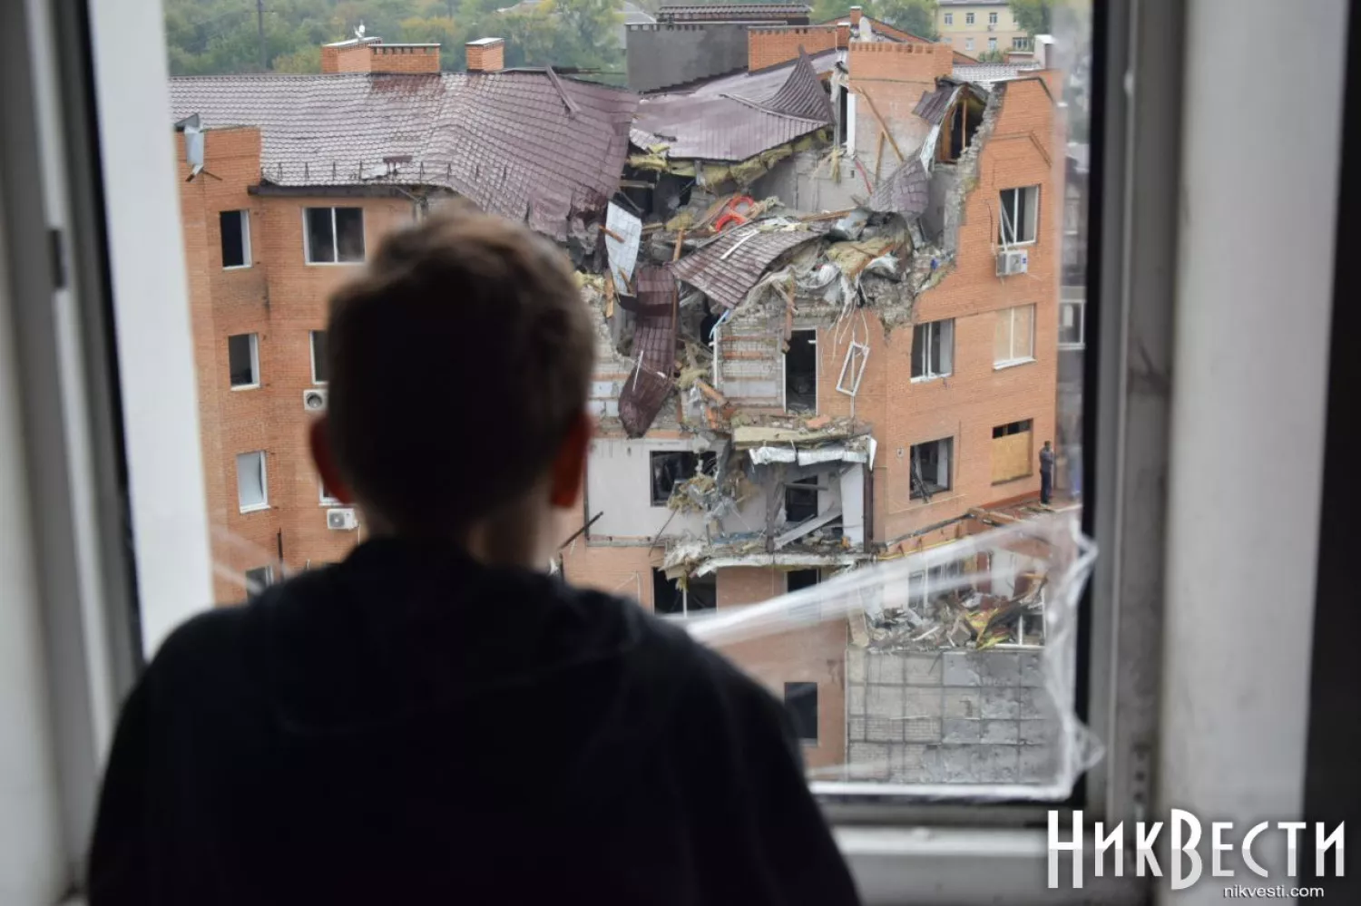
[[[818,793],[1066,799],[1102,754],[1074,709],[1077,511],[890,556],[686,627],[784,695]]]

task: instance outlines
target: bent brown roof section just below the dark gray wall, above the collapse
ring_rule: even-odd
[[[657,94],[638,103],[630,133],[668,158],[746,161],[833,124],[832,101],[806,53],[773,73],[749,73],[690,94]]]

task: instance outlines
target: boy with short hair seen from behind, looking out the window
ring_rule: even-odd
[[[562,254],[440,214],[332,298],[327,341],[312,453],[372,537],[165,642],[90,906],[856,903],[781,703],[544,571],[593,430]]]

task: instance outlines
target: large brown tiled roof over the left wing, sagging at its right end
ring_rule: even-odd
[[[170,103],[208,129],[259,127],[267,182],[444,186],[561,238],[618,188],[637,97],[506,71],[181,78]]]

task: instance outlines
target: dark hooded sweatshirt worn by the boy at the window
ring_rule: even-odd
[[[637,604],[376,540],[128,699],[91,906],[856,895],[784,709]]]

